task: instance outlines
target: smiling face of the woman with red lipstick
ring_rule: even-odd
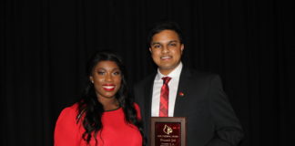
[[[121,87],[121,70],[114,61],[100,61],[93,68],[90,81],[94,84],[97,98],[115,98]]]

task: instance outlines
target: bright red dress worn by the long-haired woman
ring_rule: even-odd
[[[137,104],[137,117],[140,111]],[[56,121],[55,146],[86,146],[82,139],[85,129],[81,120],[76,123],[77,104],[62,110]],[[128,124],[122,108],[118,110],[105,111],[102,115],[103,129],[97,132],[98,146],[141,146],[142,137],[135,125]],[[92,137],[91,146],[95,146]]]

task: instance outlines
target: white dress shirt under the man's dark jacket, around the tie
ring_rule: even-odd
[[[173,117],[174,114],[174,106],[175,100],[178,92],[178,82],[182,69],[182,63],[180,62],[178,67],[175,68],[172,72],[168,74],[168,76],[164,76],[160,73],[158,69],[158,74],[154,80],[154,88],[153,88],[153,97],[152,97],[152,117],[158,117],[159,115],[159,102],[160,102],[160,93],[161,88],[163,86],[163,77],[170,77],[171,80],[168,82],[169,87],[169,101],[168,101],[168,117]]]

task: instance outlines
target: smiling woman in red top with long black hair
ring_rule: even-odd
[[[100,52],[87,64],[84,96],[60,113],[55,146],[142,145],[140,111],[127,96],[125,68],[115,55]]]

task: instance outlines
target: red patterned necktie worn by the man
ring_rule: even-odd
[[[161,98],[159,107],[159,117],[168,117],[169,87],[168,82],[171,78],[163,77],[163,86],[161,88]]]

